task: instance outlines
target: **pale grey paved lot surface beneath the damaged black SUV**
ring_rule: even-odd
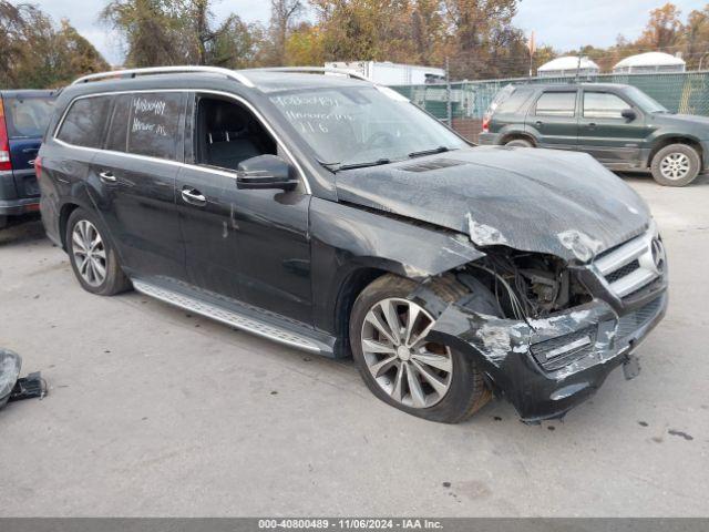
[[[37,219],[0,232],[0,346],[51,387],[0,411],[0,515],[709,515],[709,177],[626,180],[664,234],[669,313],[637,379],[534,427],[503,401],[407,416],[350,361],[92,296]]]

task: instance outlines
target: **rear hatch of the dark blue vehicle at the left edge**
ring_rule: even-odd
[[[39,197],[34,158],[53,111],[51,92],[12,93],[3,98],[10,161],[18,198]]]

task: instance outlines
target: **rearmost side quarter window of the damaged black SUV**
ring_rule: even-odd
[[[110,108],[110,96],[75,100],[56,137],[75,146],[100,147]]]

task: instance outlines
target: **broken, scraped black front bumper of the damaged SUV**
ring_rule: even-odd
[[[590,397],[662,319],[664,288],[624,311],[595,299],[547,319],[517,321],[453,304],[430,338],[475,357],[525,421],[558,418]]]

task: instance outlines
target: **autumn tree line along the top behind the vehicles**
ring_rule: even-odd
[[[523,76],[531,64],[528,35],[513,23],[520,0],[270,0],[266,23],[237,13],[217,20],[214,3],[110,0],[97,21],[121,37],[125,66],[448,61],[453,80],[474,80]],[[680,53],[689,69],[709,66],[709,4],[681,16],[667,3],[650,13],[635,41],[619,35],[608,48],[565,51],[541,45],[532,64],[582,53],[608,71],[628,55],[660,50]],[[0,0],[0,86],[61,86],[109,68],[69,20],[55,24],[30,3]]]

